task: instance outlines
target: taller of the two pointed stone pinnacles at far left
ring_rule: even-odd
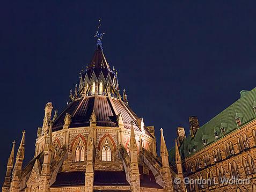
[[[11,181],[11,192],[18,192],[20,187],[20,181],[21,181],[21,169],[22,164],[24,160],[24,154],[25,154],[25,131],[22,131],[22,138],[19,145],[19,149],[16,156],[16,162],[13,168],[12,172],[12,181]]]

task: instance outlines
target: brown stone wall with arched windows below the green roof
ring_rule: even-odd
[[[217,178],[217,168],[224,168],[224,173],[227,179],[231,179],[231,174],[229,171],[229,162],[233,164],[233,161],[238,166],[238,172],[240,174],[240,179],[250,179],[250,184],[215,184],[214,186],[204,185],[203,189],[199,189],[197,184],[194,185],[195,190],[192,190],[192,186],[187,185],[188,191],[236,191],[239,189],[241,191],[253,191],[253,186],[255,186],[256,191],[256,173],[246,175],[246,171],[243,164],[243,157],[248,159],[248,154],[253,158],[254,163],[256,160],[256,138],[253,136],[253,130],[256,130],[256,120],[246,124],[244,127],[237,129],[236,131],[231,132],[230,134],[222,137],[218,141],[213,144],[208,145],[203,150],[193,154],[191,157],[187,157],[182,163],[187,170],[185,170],[185,176],[189,179],[196,179],[198,176],[202,175],[202,179],[207,179],[206,173],[212,172],[216,182],[219,183]],[[246,135],[248,139],[248,143],[250,145],[249,149],[240,151],[237,143],[237,138],[240,136]],[[226,157],[224,151],[224,144],[231,142],[233,144],[233,149],[235,154],[230,157]],[[222,160],[218,162],[214,162],[213,150],[220,149]],[[210,165],[204,166],[203,156],[205,154],[209,154],[210,157]],[[195,160],[200,160],[201,168],[196,170]],[[193,172],[189,173],[188,164],[192,163]],[[255,164],[256,165],[256,164]],[[253,191],[254,192],[254,191]]]

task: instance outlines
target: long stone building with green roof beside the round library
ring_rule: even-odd
[[[189,117],[189,130],[186,137],[178,128],[169,151],[174,172],[187,178],[187,191],[256,191],[256,88],[241,91],[240,99],[202,127]]]

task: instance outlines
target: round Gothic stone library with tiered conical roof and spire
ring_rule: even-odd
[[[163,130],[157,155],[155,128],[146,126],[120,95],[97,31],[97,49],[67,106],[45,106],[35,154],[23,166],[25,131],[14,162],[14,142],[2,191],[173,191]],[[14,164],[14,167],[13,167]]]

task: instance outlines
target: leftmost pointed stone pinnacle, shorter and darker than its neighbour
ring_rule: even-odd
[[[5,178],[4,178],[4,184],[2,187],[3,192],[7,192],[10,189],[13,160],[14,160],[14,148],[15,148],[15,141],[12,142],[12,150],[11,150],[10,157],[8,158],[7,169],[6,169],[6,174],[5,174]]]

